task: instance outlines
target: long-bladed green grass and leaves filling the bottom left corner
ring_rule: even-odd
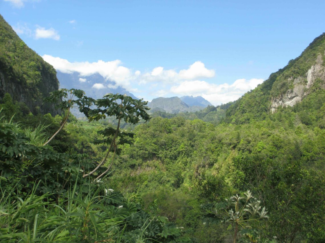
[[[0,242],[145,242],[144,232],[149,218],[135,232],[128,231],[138,209],[135,204],[125,207],[113,192],[101,185],[76,183],[67,198],[51,203],[49,193],[35,195],[41,181],[24,199],[0,187]],[[78,188],[78,190],[77,190]],[[82,191],[88,191],[82,193]],[[7,194],[7,195],[6,195]],[[5,196],[6,195],[6,196]]]

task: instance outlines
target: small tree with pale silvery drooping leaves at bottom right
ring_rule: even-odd
[[[230,224],[234,229],[234,243],[237,240],[238,230],[251,228],[250,221],[267,219],[265,207],[260,206],[261,201],[252,196],[248,190],[244,196],[232,196],[226,202],[216,203],[214,215],[221,219],[221,222]]]

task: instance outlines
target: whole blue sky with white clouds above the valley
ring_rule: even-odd
[[[138,98],[234,101],[325,32],[325,1],[0,0],[55,69],[99,73]],[[76,87],[78,88],[78,87]]]

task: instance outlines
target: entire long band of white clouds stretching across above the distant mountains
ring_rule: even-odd
[[[215,72],[213,69],[207,69],[200,61],[179,72],[158,66],[149,72],[141,73],[139,70],[132,71],[122,66],[120,60],[72,63],[66,59],[50,55],[44,55],[43,59],[60,72],[70,74],[78,72],[83,77],[79,79],[80,82],[86,80],[84,77],[96,73],[113,82],[113,84],[94,84],[93,88],[96,89],[123,87],[129,92],[137,93],[139,97],[148,96],[148,98],[183,95],[202,96],[213,105],[234,101],[263,82],[263,79],[256,78],[237,79],[232,84],[221,85],[202,81],[201,78],[214,77]],[[147,85],[148,83],[149,85]]]

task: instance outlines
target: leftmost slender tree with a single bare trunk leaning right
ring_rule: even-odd
[[[85,92],[81,89],[66,89],[61,88],[55,91],[50,92],[50,96],[44,98],[46,102],[58,103],[55,105],[56,109],[66,110],[66,116],[63,118],[63,122],[56,133],[53,134],[44,144],[47,145],[64,127],[65,123],[67,123],[70,109],[71,108],[79,108],[79,110],[84,107],[90,107],[94,104],[94,99],[85,96]]]

